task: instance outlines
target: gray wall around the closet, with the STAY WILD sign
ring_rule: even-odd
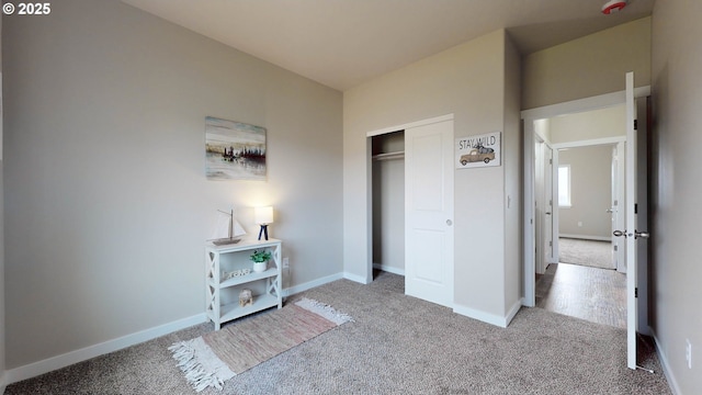
[[[497,31],[344,92],[348,273],[365,278],[371,259],[370,219],[359,215],[370,208],[366,133],[453,113],[456,138],[501,131],[503,160],[500,167],[454,174],[456,308],[499,320],[518,306],[521,234],[519,226],[506,227],[521,218],[519,65],[506,33]],[[480,185],[480,193],[475,193],[475,185]]]

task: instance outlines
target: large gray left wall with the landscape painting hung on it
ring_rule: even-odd
[[[2,40],[8,369],[202,315],[217,208],[275,207],[287,285],[341,272],[340,92],[118,1]],[[267,182],[205,179],[207,115],[268,128]]]

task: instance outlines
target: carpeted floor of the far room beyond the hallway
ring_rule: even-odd
[[[610,241],[558,238],[558,262],[600,269],[616,269]]]

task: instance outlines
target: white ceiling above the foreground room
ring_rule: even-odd
[[[522,54],[650,14],[630,0],[122,0],[328,87],[347,90],[498,29]]]

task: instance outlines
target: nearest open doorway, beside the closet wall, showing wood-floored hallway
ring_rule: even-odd
[[[621,104],[537,120],[534,127],[535,305],[620,328],[626,278],[614,272],[619,240],[611,235],[612,208],[623,200],[616,185],[624,174],[614,169],[625,116]]]

